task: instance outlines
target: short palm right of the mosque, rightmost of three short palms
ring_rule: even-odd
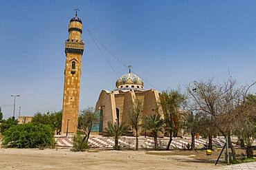
[[[186,131],[190,132],[191,135],[191,151],[194,151],[194,137],[196,133],[199,132],[200,129],[200,115],[199,113],[193,113],[193,111],[188,111],[183,114],[184,116],[184,127]]]

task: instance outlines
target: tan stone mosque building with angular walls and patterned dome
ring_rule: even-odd
[[[100,116],[98,131],[102,132],[107,123],[129,123],[128,115],[138,99],[143,106],[143,116],[159,113],[163,116],[160,94],[156,89],[145,89],[142,78],[131,72],[122,75],[116,81],[116,88],[109,91],[102,89],[95,109]],[[158,109],[158,110],[156,110]],[[143,122],[143,120],[141,120]],[[140,131],[139,131],[140,133]]]

